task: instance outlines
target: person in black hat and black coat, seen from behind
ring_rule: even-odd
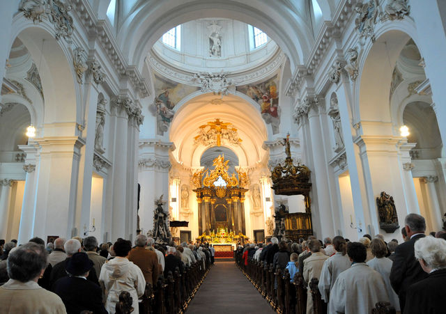
[[[54,283],[53,290],[61,297],[67,313],[80,313],[92,311],[106,314],[102,304],[102,291],[98,285],[86,280],[93,262],[86,253],[79,252],[66,262],[68,277],[60,278]]]

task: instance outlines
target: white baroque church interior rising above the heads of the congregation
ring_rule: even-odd
[[[134,240],[160,200],[181,242],[443,226],[444,1],[1,8],[0,239]]]

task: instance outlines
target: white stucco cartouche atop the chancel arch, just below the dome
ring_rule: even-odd
[[[226,78],[226,72],[197,73],[192,77],[192,82],[199,83],[203,93],[228,95],[230,91],[236,91],[231,79]]]

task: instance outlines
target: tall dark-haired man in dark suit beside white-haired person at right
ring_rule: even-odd
[[[410,285],[426,278],[420,263],[415,260],[413,246],[425,237],[426,221],[419,214],[408,214],[404,219],[407,236],[410,238],[395,249],[394,262],[390,271],[390,283],[399,297],[401,313],[404,313],[406,292]]]

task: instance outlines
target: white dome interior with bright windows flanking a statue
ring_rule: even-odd
[[[276,43],[254,26],[234,19],[206,18],[165,33],[151,49],[149,61],[177,71],[236,74],[267,63],[278,52]]]

